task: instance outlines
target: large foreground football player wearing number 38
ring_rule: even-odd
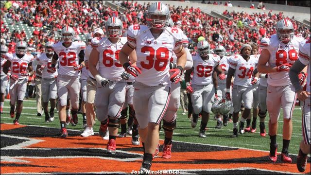
[[[153,154],[158,147],[159,123],[169,104],[171,81],[179,83],[187,61],[187,53],[182,46],[182,30],[167,27],[169,8],[162,2],[155,2],[148,8],[147,16],[148,26],[129,27],[127,44],[120,52],[120,62],[124,69],[136,77],[133,104],[144,148],[140,168],[143,172],[150,170]],[[131,65],[127,57],[134,49],[137,63]],[[173,52],[176,53],[177,64],[176,69],[170,70]],[[173,75],[170,76],[169,72]]]

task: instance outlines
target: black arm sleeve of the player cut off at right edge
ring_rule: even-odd
[[[298,74],[301,70],[303,70],[306,65],[302,64],[299,60],[297,60],[289,71],[288,75],[290,76],[291,82],[294,85],[296,92],[301,88],[299,83]]]

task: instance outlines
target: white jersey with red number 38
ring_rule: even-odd
[[[155,39],[148,26],[130,26],[127,40],[136,50],[137,67],[141,69],[135,81],[147,86],[170,84],[169,61],[173,51],[182,46],[183,37],[183,31],[179,28],[167,27]]]

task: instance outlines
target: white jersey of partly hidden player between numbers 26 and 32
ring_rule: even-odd
[[[42,78],[54,78],[57,76],[57,70],[52,73],[52,57],[49,58],[46,53],[40,54],[40,56],[37,58],[38,59],[38,65],[43,65],[45,66],[44,69],[42,70]],[[58,63],[58,60],[57,60]],[[57,64],[55,66],[55,69],[57,68]]]

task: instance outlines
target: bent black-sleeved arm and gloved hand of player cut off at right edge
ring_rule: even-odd
[[[291,82],[296,89],[297,92],[297,98],[301,101],[304,101],[310,96],[310,92],[307,92],[303,90],[300,86],[300,80],[299,80],[299,73],[303,71],[306,68],[306,65],[302,64],[300,60],[298,59],[294,65],[292,66],[291,70],[289,71],[288,75],[291,79]]]

